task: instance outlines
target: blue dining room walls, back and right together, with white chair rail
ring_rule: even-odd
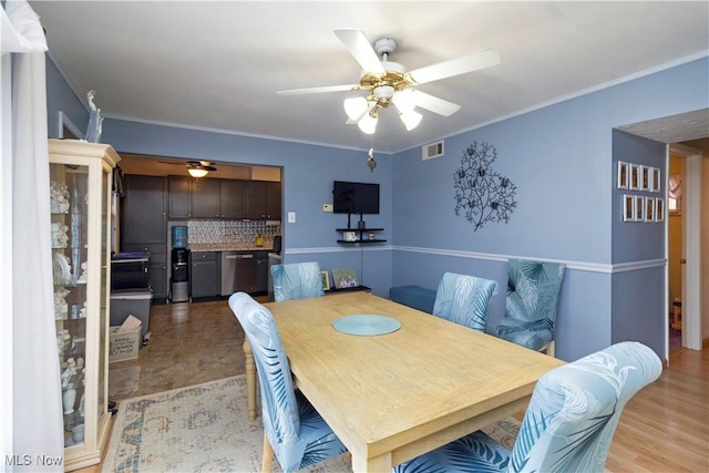
[[[703,58],[462,132],[445,140],[441,158],[422,162],[419,147],[378,155],[373,174],[363,151],[138,122],[106,119],[102,141],[119,152],[282,166],[284,213],[297,213],[296,224],[284,224],[286,260],[318,260],[327,269],[354,267],[380,296],[395,285],[435,288],[444,271],[473,274],[500,282],[503,290],[493,299],[490,317],[502,317],[508,257],[563,261],[567,270],[556,353],[573,360],[614,341],[664,333],[664,325],[655,328],[655,321],[641,330],[620,318],[614,321],[621,306],[615,291],[665,290],[664,276],[657,277],[664,268],[641,270],[645,260],[623,261],[623,271],[615,266],[617,255],[630,255],[618,246],[635,241],[614,234],[623,232],[616,226],[614,128],[709,107],[708,70]],[[48,80],[63,81],[54,75]],[[64,89],[50,84],[48,94],[64,95]],[[50,115],[64,103],[60,97],[49,102]],[[453,173],[473,141],[495,146],[493,168],[517,187],[511,220],[489,223],[477,232],[453,213]],[[322,213],[321,205],[331,202],[336,179],[381,184],[382,213],[367,216],[367,223],[386,228],[382,237],[391,245],[335,243],[335,228],[345,226],[347,217]],[[664,254],[659,245],[653,244],[651,255]],[[631,277],[628,265],[638,266]],[[656,301],[648,298],[647,304]]]

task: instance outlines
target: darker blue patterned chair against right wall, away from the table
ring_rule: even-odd
[[[505,316],[487,332],[554,357],[554,326],[565,266],[511,259],[507,264]]]

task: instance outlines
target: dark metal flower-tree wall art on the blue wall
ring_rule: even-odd
[[[487,143],[473,142],[463,152],[461,167],[455,171],[455,215],[473,224],[473,232],[487,222],[510,222],[517,203],[512,181],[493,171],[497,151]]]

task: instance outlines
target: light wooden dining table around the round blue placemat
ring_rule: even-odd
[[[354,472],[391,471],[523,412],[540,377],[564,364],[367,292],[265,307],[276,320],[295,384],[349,449]],[[333,327],[352,315],[384,316],[401,327],[377,336]],[[254,361],[248,342],[244,348],[255,417]]]

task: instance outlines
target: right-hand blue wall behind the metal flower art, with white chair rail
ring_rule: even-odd
[[[454,270],[506,287],[510,257],[563,261],[559,358],[573,360],[625,339],[644,341],[664,357],[665,261],[646,268],[647,259],[664,258],[664,227],[618,223],[614,128],[708,107],[708,69],[705,58],[460,133],[445,140],[441,158],[421,161],[418,148],[397,154],[392,284],[434,288],[442,273]],[[453,173],[473,142],[494,145],[494,169],[517,186],[511,220],[476,232],[453,213]],[[626,143],[633,151],[623,160],[664,168],[656,153],[664,144],[650,143]],[[621,295],[633,298],[630,311]],[[503,315],[501,294],[489,317]]]

